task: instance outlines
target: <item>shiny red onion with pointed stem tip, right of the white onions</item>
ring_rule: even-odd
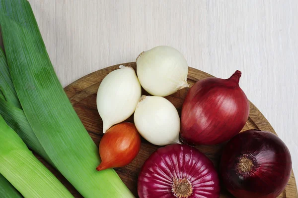
[[[238,134],[249,114],[239,87],[241,72],[230,78],[206,78],[189,90],[182,107],[180,139],[187,144],[214,145]]]

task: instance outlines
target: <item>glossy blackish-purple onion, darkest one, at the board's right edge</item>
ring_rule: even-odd
[[[247,172],[239,168],[241,156],[253,164]],[[247,168],[247,163],[243,167]],[[291,154],[273,133],[248,130],[227,143],[220,170],[227,190],[236,198],[276,198],[290,179]]]

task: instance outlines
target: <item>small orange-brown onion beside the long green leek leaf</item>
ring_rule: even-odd
[[[103,135],[99,143],[102,162],[96,170],[126,166],[137,156],[140,148],[141,137],[133,123],[114,125]]]

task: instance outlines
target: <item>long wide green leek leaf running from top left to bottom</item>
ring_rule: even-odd
[[[134,197],[113,169],[97,172],[98,148],[67,98],[49,59],[31,6],[0,0],[9,71],[24,113],[56,168],[86,198]]]

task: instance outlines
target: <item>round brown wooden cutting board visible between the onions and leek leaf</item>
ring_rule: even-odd
[[[84,124],[85,128],[89,132],[89,135],[91,136],[91,138],[93,139],[93,141],[97,146],[99,145],[100,139],[103,136],[102,120],[96,108],[97,89],[102,79],[111,71],[118,69],[120,65],[121,64],[114,65],[114,66],[107,67],[99,71],[93,72],[87,76],[84,76],[78,79],[77,81],[70,84],[64,89],[68,98],[73,104],[77,115],[79,116],[80,120]],[[136,69],[135,62],[125,63],[122,65],[131,66],[134,69]],[[212,75],[194,68],[189,68],[187,81],[192,86],[195,82],[207,77],[212,77]],[[177,93],[166,97],[166,99],[168,99],[175,105],[175,107],[179,112],[179,115],[181,113],[182,103],[184,101],[184,98],[186,97],[188,90],[189,88],[184,88],[178,91]],[[142,90],[142,95],[149,95],[149,94],[146,91]],[[133,116],[131,116],[127,121],[133,122],[134,121]],[[260,129],[265,131],[271,131],[272,133],[276,134],[272,126],[266,120],[266,118],[252,103],[250,103],[250,113],[249,113],[248,121],[246,122],[246,125],[244,126],[242,131],[248,130],[248,129]],[[213,161],[215,167],[218,169],[223,146],[224,144],[214,145],[214,146],[197,146],[196,148],[198,148],[200,151],[205,153],[207,157],[209,157]],[[138,197],[137,179],[138,179],[138,174],[140,172],[140,169],[143,163],[145,162],[145,160],[157,148],[159,147],[154,146],[149,142],[147,142],[146,140],[142,139],[141,150],[138,156],[133,160],[133,162],[125,167],[115,168],[116,172],[119,174],[123,182],[126,184],[126,186],[132,191],[132,193],[136,197]],[[76,198],[81,197],[61,174],[59,174],[56,170],[53,170],[53,168],[50,168],[50,169],[74,194],[74,197]],[[231,196],[225,190],[224,186],[222,186],[221,198],[232,198],[232,197],[233,196]],[[287,188],[279,196],[279,198],[298,198],[297,186],[296,186],[293,172]]]

